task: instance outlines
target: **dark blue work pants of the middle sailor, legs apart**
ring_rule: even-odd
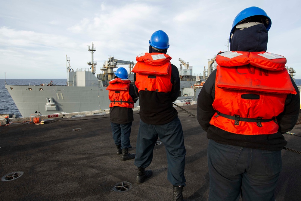
[[[167,124],[146,124],[140,120],[134,164],[146,168],[151,164],[158,137],[165,146],[167,156],[167,179],[172,185],[186,186],[184,168],[186,149],[181,121],[178,117]]]

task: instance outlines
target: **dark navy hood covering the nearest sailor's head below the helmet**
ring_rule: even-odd
[[[268,32],[263,24],[237,29],[231,38],[230,51],[265,52],[268,46]]]

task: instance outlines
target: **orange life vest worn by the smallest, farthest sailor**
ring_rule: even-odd
[[[114,106],[134,108],[134,101],[129,94],[129,86],[131,81],[128,79],[115,78],[110,80],[109,86],[109,99],[111,101],[110,108]]]

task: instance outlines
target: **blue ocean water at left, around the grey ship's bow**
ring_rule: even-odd
[[[48,84],[50,80],[56,85],[66,85],[67,79],[6,79],[10,85],[40,85]],[[14,114],[22,117],[14,100],[5,88],[4,79],[0,79],[0,114]]]

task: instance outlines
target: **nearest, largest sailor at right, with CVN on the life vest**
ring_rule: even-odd
[[[266,52],[272,21],[250,7],[235,17],[230,51],[197,99],[197,119],[207,132],[209,200],[275,200],[282,168],[282,134],[299,116],[299,90],[286,58]]]

